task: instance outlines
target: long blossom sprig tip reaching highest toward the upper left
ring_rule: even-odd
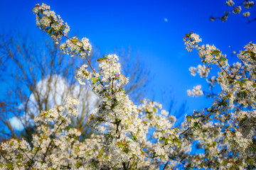
[[[63,24],[63,20],[60,16],[56,16],[54,11],[50,11],[50,6],[44,3],[41,5],[36,4],[36,7],[33,8],[33,13],[36,13],[36,25],[42,31],[50,35],[56,43],[58,43],[58,40],[63,36],[67,38],[66,42],[60,45],[60,50],[62,50],[63,53],[71,55],[71,57],[78,56],[86,58],[92,71],[96,73],[88,59],[92,51],[92,45],[90,45],[87,38],[82,38],[82,40],[75,37],[72,39],[68,38],[67,35],[70,30],[68,23]]]

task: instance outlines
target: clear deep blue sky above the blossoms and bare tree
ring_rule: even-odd
[[[256,38],[256,22],[247,24],[241,14],[231,15],[225,23],[209,21],[210,16],[221,16],[229,9],[223,0],[0,1],[1,30],[28,30],[40,36],[32,8],[42,2],[69,24],[71,33],[89,38],[102,54],[112,54],[114,48],[128,49],[131,45],[132,55],[139,54],[145,67],[151,70],[156,100],[160,100],[161,91],[171,89],[177,105],[187,101],[188,113],[210,106],[210,101],[186,96],[187,89],[203,84],[204,80],[188,72],[189,67],[196,67],[201,60],[197,52],[186,51],[183,36],[191,31],[198,33],[203,43],[214,44],[229,56],[232,52],[229,45],[242,50]],[[235,57],[228,59],[235,61]],[[203,90],[208,87],[203,86]]]

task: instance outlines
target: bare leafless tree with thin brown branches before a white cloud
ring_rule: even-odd
[[[80,101],[78,117],[71,118],[71,125],[81,130],[82,137],[90,136],[92,129],[86,125],[86,120],[99,100],[89,86],[75,80],[75,68],[85,61],[78,57],[66,57],[58,45],[46,36],[36,40],[29,33],[23,35],[16,31],[5,31],[0,35],[0,82],[6,84],[6,88],[2,89],[5,93],[0,98],[1,142],[13,137],[31,141],[34,117],[47,108],[60,105],[67,96]],[[131,60],[130,49],[127,53],[124,50],[121,52],[120,63],[126,68],[122,74],[129,76],[130,82],[125,89],[137,102],[143,99],[148,88],[149,72],[139,57]],[[99,53],[92,50],[89,60],[98,58]]]

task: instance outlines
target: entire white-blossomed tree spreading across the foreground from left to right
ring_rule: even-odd
[[[200,45],[201,38],[189,33],[186,48],[196,48],[202,65],[191,67],[208,77],[210,67],[220,72],[211,77],[210,88],[219,84],[213,105],[187,115],[181,127],[173,127],[176,118],[148,100],[134,105],[124,85],[129,79],[121,74],[117,55],[99,58],[96,71],[88,56],[92,47],[87,38],[68,38],[69,27],[46,4],[36,5],[37,26],[55,42],[65,37],[60,49],[68,55],[87,60],[75,78],[90,84],[100,105],[87,124],[97,132],[80,140],[81,132],[70,127],[70,116],[78,116],[79,101],[68,97],[64,106],[54,106],[35,118],[32,144],[12,139],[0,145],[1,169],[254,169],[255,163],[255,53],[250,42],[233,65],[214,45]],[[207,67],[206,67],[207,64]],[[203,95],[201,86],[188,95]],[[191,154],[192,145],[201,148]]]

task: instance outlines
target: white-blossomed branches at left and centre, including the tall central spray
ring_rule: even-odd
[[[151,162],[154,169],[169,159],[164,145],[174,148],[173,152],[186,152],[186,147],[178,141],[169,145],[164,142],[166,132],[169,132],[166,137],[176,141],[177,130],[171,129],[175,118],[169,113],[162,110],[156,114],[161,105],[144,101],[138,108],[129,100],[124,91],[128,79],[121,74],[117,55],[98,59],[96,72],[88,59],[92,46],[87,38],[68,38],[68,24],[46,4],[36,5],[33,11],[38,27],[55,42],[67,38],[60,50],[87,60],[90,70],[83,64],[75,78],[80,84],[88,81],[102,101],[88,121],[98,132],[80,141],[81,132],[70,128],[70,117],[78,116],[78,100],[68,97],[65,106],[42,111],[35,118],[37,128],[32,145],[23,139],[1,143],[3,169],[148,169]],[[156,142],[146,139],[149,127],[155,129],[151,138]]]

